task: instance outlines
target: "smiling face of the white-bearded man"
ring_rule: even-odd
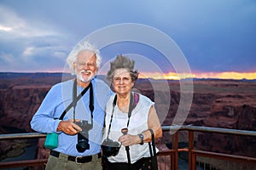
[[[96,76],[96,55],[90,51],[81,51],[76,63],[73,63],[77,78],[82,82],[90,82]]]

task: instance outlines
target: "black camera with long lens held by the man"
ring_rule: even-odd
[[[78,133],[78,144],[76,145],[76,148],[79,152],[84,152],[85,150],[90,149],[88,139],[92,124],[89,124],[88,121],[76,122],[76,124],[82,128],[82,132]]]

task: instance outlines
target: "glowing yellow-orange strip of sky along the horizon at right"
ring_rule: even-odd
[[[139,78],[154,78],[167,80],[181,80],[184,78],[216,78],[216,79],[234,79],[234,80],[253,80],[256,79],[256,72],[201,72],[201,73],[183,73],[177,74],[175,72],[160,73],[160,72],[141,72]]]

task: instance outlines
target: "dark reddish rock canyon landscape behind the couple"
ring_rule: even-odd
[[[69,78],[72,77],[65,76],[63,79],[61,73],[1,73],[0,133],[13,133],[9,130],[12,128],[26,133],[33,132],[30,121],[49,88]],[[168,93],[161,92],[163,84],[167,84]],[[155,107],[162,126],[172,125],[181,95],[186,94],[181,94],[179,81],[139,79],[134,88],[152,100],[160,95],[155,101]],[[183,124],[256,131],[255,92],[255,81],[193,80],[193,99]],[[166,105],[168,99],[170,103]],[[167,112],[163,113],[164,111]],[[256,156],[256,139],[252,137],[218,133],[198,133],[196,137],[195,147],[200,150]],[[164,133],[163,138],[157,140],[160,150],[166,150],[171,142],[170,133]],[[14,145],[14,141],[0,141],[0,155],[7,156],[14,149]],[[38,140],[37,155],[37,158],[49,156],[49,150],[44,149],[44,139]]]

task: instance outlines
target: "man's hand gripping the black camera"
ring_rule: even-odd
[[[80,120],[75,120],[79,122]],[[58,125],[57,131],[62,131],[69,135],[74,135],[82,131],[82,128],[73,122],[73,119],[68,121],[61,121]]]

